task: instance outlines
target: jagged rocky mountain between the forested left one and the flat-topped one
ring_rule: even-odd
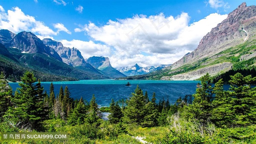
[[[46,46],[53,48],[62,58],[63,62],[82,71],[94,72],[102,75],[97,69],[86,62],[81,52],[76,48],[67,48],[61,42],[53,41],[50,38],[42,40]]]

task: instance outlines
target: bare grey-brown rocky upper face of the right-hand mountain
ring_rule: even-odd
[[[247,41],[256,32],[256,6],[242,3],[225,20],[205,35],[197,48],[172,65],[177,69]]]

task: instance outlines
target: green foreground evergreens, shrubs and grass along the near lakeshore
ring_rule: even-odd
[[[32,72],[26,72],[15,94],[5,75],[0,75],[1,132],[67,132],[67,141],[0,141],[0,143],[140,144],[144,137],[154,144],[253,144],[256,143],[256,77],[236,73],[230,89],[223,90],[220,79],[200,78],[196,93],[177,99],[151,99],[139,86],[124,102],[112,102],[108,121],[93,95],[85,102],[71,98],[68,87],[47,95]],[[134,137],[132,137],[134,136]]]

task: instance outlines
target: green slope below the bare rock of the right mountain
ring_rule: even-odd
[[[202,68],[207,68],[215,64],[223,62],[231,62],[231,70],[237,71],[239,69],[255,69],[256,68],[256,35],[248,41],[230,47],[222,52],[216,53],[213,56],[204,57],[191,64],[182,65],[177,69],[162,69],[156,72],[149,73],[147,75],[130,76],[128,79],[153,79],[159,80],[163,76],[173,76],[189,71],[195,71]],[[250,55],[250,56],[248,56]],[[225,73],[226,71],[220,71],[218,75]]]

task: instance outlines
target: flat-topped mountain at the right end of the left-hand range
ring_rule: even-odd
[[[118,77],[126,77],[123,73],[117,71],[115,68],[113,68],[110,64],[108,57],[89,57],[86,59],[87,62],[89,62],[93,67],[99,69],[100,71],[106,73],[112,78],[118,78]]]

